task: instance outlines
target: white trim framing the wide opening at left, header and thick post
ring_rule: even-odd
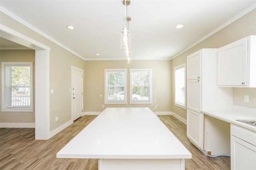
[[[50,138],[50,47],[35,41],[4,25],[1,37],[26,43],[35,52],[35,139]],[[20,44],[20,43],[19,43]],[[27,47],[27,46],[26,46]]]

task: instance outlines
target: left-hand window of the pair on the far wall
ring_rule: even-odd
[[[105,69],[105,104],[127,104],[126,69]]]

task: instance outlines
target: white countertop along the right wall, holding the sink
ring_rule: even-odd
[[[237,119],[256,119],[256,112],[252,109],[251,112],[247,112],[246,110],[238,109],[238,110],[205,110],[201,111],[205,115],[209,115],[215,117],[217,119],[226,121],[228,123],[233,123],[247,129],[251,129],[256,131],[256,127],[253,125],[249,125],[247,123],[242,123],[240,121],[236,121]]]

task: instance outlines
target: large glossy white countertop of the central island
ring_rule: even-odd
[[[57,158],[183,159],[191,153],[148,107],[106,108]]]

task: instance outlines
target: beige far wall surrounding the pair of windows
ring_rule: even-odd
[[[171,60],[86,61],[84,72],[84,110],[103,111],[106,107],[150,107],[152,111],[171,111]],[[104,69],[126,68],[129,95],[129,68],[152,68],[153,104],[104,104]],[[100,97],[102,95],[102,97]],[[128,96],[129,99],[129,96]],[[129,100],[128,100],[129,101]],[[155,108],[155,105],[158,107]],[[104,108],[102,108],[104,105]]]

